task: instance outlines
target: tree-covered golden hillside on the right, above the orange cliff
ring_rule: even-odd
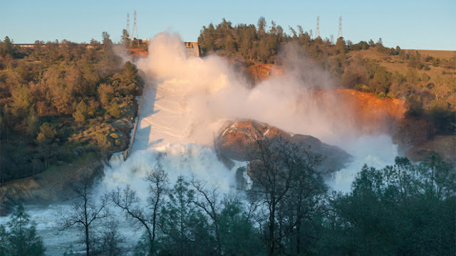
[[[377,97],[407,100],[411,117],[428,119],[437,134],[453,134],[456,123],[456,53],[450,58],[423,56],[419,51],[383,46],[361,41],[352,43],[338,38],[312,38],[311,32],[281,26],[259,18],[257,26],[229,21],[204,26],[198,38],[202,55],[215,53],[241,60],[247,65],[276,63],[281,65],[279,52],[293,45],[302,55],[331,75],[341,87],[371,92]],[[435,69],[441,70],[435,73]],[[303,67],[304,68],[304,67]],[[413,99],[412,99],[413,98]],[[412,99],[412,100],[411,100]],[[420,108],[419,110],[417,108]]]

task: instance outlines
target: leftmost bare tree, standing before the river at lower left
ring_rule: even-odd
[[[95,221],[108,217],[109,213],[106,209],[109,203],[108,197],[94,198],[88,178],[83,178],[79,183],[71,184],[71,189],[76,196],[72,198],[74,202],[71,210],[61,211],[59,230],[66,230],[73,226],[83,228],[83,241],[86,244],[86,255],[89,256],[93,239],[90,238],[90,226]]]

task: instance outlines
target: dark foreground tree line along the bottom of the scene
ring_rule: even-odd
[[[127,238],[108,220],[112,207],[142,230],[130,249],[134,255],[454,254],[456,175],[440,156],[430,154],[419,164],[397,157],[383,169],[363,166],[343,194],[329,191],[316,173],[321,156],[298,156],[294,147],[259,141],[259,160],[247,168],[253,181],[247,191],[222,193],[194,177],[172,184],[161,156],[145,176],[147,198],[130,186],[94,198],[90,183],[76,184],[73,208],[61,214],[58,228],[77,226],[86,255],[128,252]],[[8,241],[4,255],[25,255],[14,254],[14,242],[21,250],[42,247],[33,228],[16,240],[18,225],[15,217],[0,229]],[[106,228],[95,233],[94,225]]]

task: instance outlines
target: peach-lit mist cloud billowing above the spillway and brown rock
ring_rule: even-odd
[[[326,92],[330,97],[324,102],[315,97],[315,88],[333,87],[323,70],[299,55],[293,46],[284,48],[279,60],[283,75],[249,89],[247,78],[227,60],[214,55],[187,58],[179,36],[160,33],[150,43],[149,56],[138,61],[138,68],[155,86],[167,86],[187,95],[186,106],[196,131],[192,136],[197,142],[210,142],[217,132],[210,124],[220,119],[256,119],[323,142],[335,142],[353,128],[350,120],[343,118],[350,116],[351,110],[331,97],[331,92]]]

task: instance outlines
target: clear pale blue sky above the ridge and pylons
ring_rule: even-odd
[[[114,42],[120,41],[130,13],[137,12],[140,38],[157,33],[179,33],[183,41],[197,41],[202,26],[220,23],[257,25],[264,16],[268,25],[274,21],[290,34],[296,30],[316,31],[320,17],[322,38],[338,36],[338,18],[342,16],[343,38],[353,43],[374,42],[382,38],[387,47],[403,49],[456,50],[456,1],[50,1],[0,0],[0,38],[14,43],[39,41],[101,41],[107,31]]]

